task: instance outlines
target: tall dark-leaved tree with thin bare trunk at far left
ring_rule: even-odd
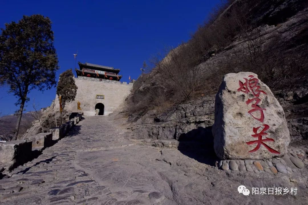
[[[17,140],[28,93],[56,85],[55,74],[59,66],[53,42],[51,21],[40,14],[23,16],[17,23],[12,21],[1,28],[0,85],[10,88],[9,92],[18,99],[16,106],[20,106],[12,140]]]

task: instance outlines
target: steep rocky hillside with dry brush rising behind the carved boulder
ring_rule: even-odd
[[[249,71],[283,106],[291,143],[307,143],[307,17],[306,1],[229,2],[134,83],[121,114],[128,118],[126,126],[136,138],[211,138],[222,77]]]

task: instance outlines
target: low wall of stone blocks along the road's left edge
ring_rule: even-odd
[[[60,127],[51,128],[48,133],[35,134],[25,140],[0,143],[0,172],[6,174],[19,165],[31,161],[43,149],[65,137],[80,120],[81,116],[77,116]]]

